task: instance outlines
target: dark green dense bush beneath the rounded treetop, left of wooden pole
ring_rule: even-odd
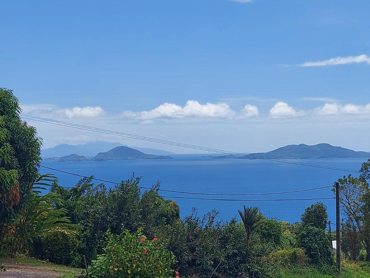
[[[332,265],[333,252],[325,230],[307,226],[300,235],[299,246],[305,249],[312,264]]]

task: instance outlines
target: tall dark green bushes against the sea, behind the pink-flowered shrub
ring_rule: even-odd
[[[179,219],[176,202],[158,195],[159,183],[140,198],[139,182],[140,178],[132,176],[110,189],[103,184],[94,185],[92,177],[82,179],[71,189],[59,186],[57,181],[53,183],[51,191],[62,196],[67,216],[83,229],[77,238],[77,259],[65,253],[67,257],[61,261],[71,261],[72,265],[83,267],[82,255],[89,264],[101,254],[107,231],[120,234],[122,228],[134,232],[137,227],[143,227],[145,234],[153,238],[155,228]]]

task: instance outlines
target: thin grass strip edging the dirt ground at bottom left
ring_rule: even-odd
[[[51,264],[49,262],[45,261],[40,261],[38,259],[33,259],[33,258],[15,258],[15,259],[9,259],[9,258],[1,258],[0,259],[1,264],[2,263],[22,263],[22,264],[28,264],[28,265],[33,265],[33,266],[47,266],[50,267],[48,269],[49,271],[54,271],[57,273],[60,273],[62,276],[61,278],[74,278],[76,274],[81,274],[84,269],[81,268],[73,268],[73,267],[67,267],[65,265],[56,265],[56,264]]]

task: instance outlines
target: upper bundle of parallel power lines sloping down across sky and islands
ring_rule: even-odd
[[[162,140],[162,139],[150,138],[150,137],[145,137],[145,136],[133,135],[133,134],[129,134],[129,133],[116,132],[116,131],[112,131],[112,130],[94,128],[94,127],[90,127],[90,126],[78,125],[78,124],[74,124],[74,123],[62,122],[62,121],[58,121],[58,120],[41,118],[41,117],[31,116],[31,115],[26,115],[26,114],[21,114],[21,115],[25,119],[34,120],[34,121],[37,121],[37,122],[50,123],[50,124],[58,125],[58,126],[65,126],[65,127],[87,130],[87,131],[93,131],[93,132],[109,134],[109,135],[116,135],[116,136],[131,138],[131,139],[138,139],[138,140],[144,140],[144,141],[149,141],[149,142],[161,143],[161,144],[165,144],[165,145],[172,145],[172,146],[179,146],[179,147],[183,147],[183,148],[205,150],[207,152],[224,153],[224,154],[228,154],[228,155],[234,155],[234,156],[239,156],[239,157],[247,157],[247,158],[252,158],[252,159],[270,160],[270,161],[274,161],[274,162],[287,163],[287,164],[293,164],[293,165],[309,166],[309,167],[315,167],[315,168],[330,169],[330,170],[337,170],[337,171],[346,171],[346,172],[354,172],[354,173],[359,172],[359,171],[351,170],[351,169],[337,168],[337,167],[331,167],[331,166],[323,166],[323,165],[317,165],[317,164],[311,164],[311,163],[295,162],[295,161],[284,160],[284,159],[274,159],[274,158],[268,158],[268,157],[264,157],[264,156],[247,155],[247,154],[237,153],[237,152],[229,152],[229,151],[226,151],[226,150],[212,149],[212,148],[207,148],[207,147],[202,147],[202,146],[189,145],[189,144],[178,143],[178,142],[173,142],[173,141],[168,141],[168,140]]]

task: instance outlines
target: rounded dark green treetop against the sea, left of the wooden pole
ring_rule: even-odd
[[[314,203],[306,208],[301,217],[303,226],[314,226],[326,229],[327,212],[326,206],[322,202]]]

